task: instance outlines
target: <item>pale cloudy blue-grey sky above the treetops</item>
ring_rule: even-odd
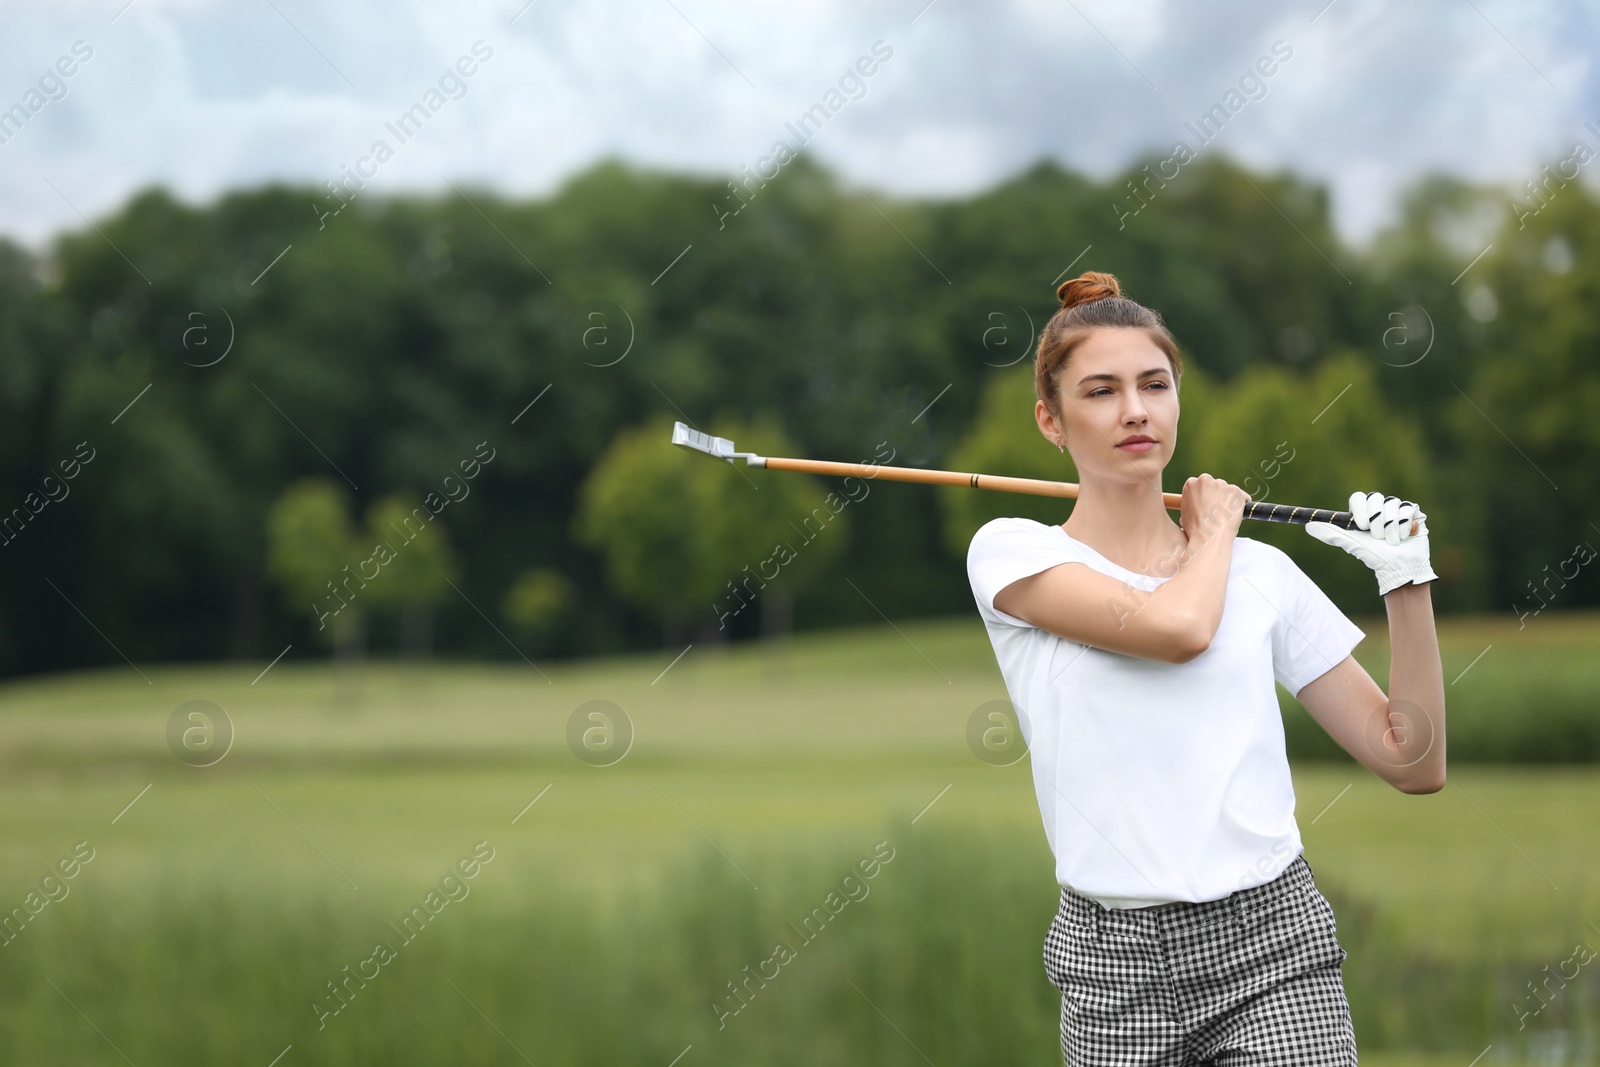
[[[1181,139],[1326,182],[1363,245],[1429,171],[1517,189],[1600,150],[1597,27],[1600,5],[1510,0],[5,0],[0,234],[344,168],[517,197],[605,157],[733,174],[821,106],[808,150],[869,195],[1040,158],[1104,179]]]

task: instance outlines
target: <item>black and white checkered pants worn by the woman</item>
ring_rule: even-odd
[[[1061,891],[1045,971],[1067,1067],[1354,1067],[1333,907],[1296,856],[1219,901],[1106,909]]]

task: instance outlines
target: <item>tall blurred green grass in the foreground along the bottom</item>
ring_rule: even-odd
[[[878,840],[893,859],[864,878],[859,862]],[[322,1029],[314,1000],[376,941],[398,945],[394,915],[354,896],[283,899],[266,886],[75,901],[0,949],[0,1062],[112,1064],[120,1053],[266,1067],[293,1045],[285,1067],[666,1067],[688,1046],[685,1065],[1053,1065],[1059,997],[1040,945],[1056,894],[1034,845],[901,825],[742,870],[707,848],[648,894],[610,904],[542,889],[538,869],[512,867],[501,873],[526,885],[518,904],[450,904],[378,977],[352,982]],[[1490,1043],[1536,1051],[1557,1032],[1592,1041],[1600,960],[1518,1032],[1507,1005],[1558,960],[1397,955],[1394,917],[1323,891],[1350,952],[1363,1051],[1451,1051],[1466,1064]],[[797,928],[818,907],[827,920],[806,939]],[[747,981],[779,942],[792,957]]]

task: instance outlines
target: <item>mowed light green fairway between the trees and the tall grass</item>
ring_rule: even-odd
[[[1381,621],[1363,624],[1374,640],[1363,641],[1358,657],[1382,681],[1382,630],[1374,629]],[[1478,686],[1475,691],[1514,691],[1517,672],[1538,662],[1539,654],[1573,661],[1576,649],[1586,643],[1592,649],[1600,633],[1592,617],[1542,619],[1538,630],[1518,633],[1515,621],[1446,622],[1446,681],[1485,645],[1494,646],[1451,688],[1451,699],[1458,691],[1466,694],[1469,685]],[[674,662],[675,654],[672,649],[539,669],[382,664],[368,665],[358,685],[330,665],[293,661],[277,664],[258,681],[266,664],[141,664],[149,683],[130,667],[107,667],[8,685],[0,689],[3,907],[22,905],[75,843],[86,840],[94,849],[94,859],[70,881],[69,896],[21,929],[6,945],[10,957],[0,955],[16,968],[22,963],[18,950],[29,939],[48,942],[56,971],[13,971],[8,981],[16,984],[13,989],[26,989],[30,1003],[53,1013],[51,1027],[75,1027],[70,1021],[77,1016],[37,981],[72,981],[72,942],[62,941],[69,929],[126,931],[130,923],[149,921],[163,909],[176,921],[184,909],[208,899],[261,901],[262,915],[290,928],[301,910],[355,921],[360,929],[333,953],[341,963],[354,963],[374,937],[387,936],[386,923],[422,901],[478,841],[490,843],[494,859],[470,881],[472,896],[438,917],[442,928],[450,920],[451,952],[464,968],[454,974],[464,982],[474,977],[480,944],[474,939],[494,937],[486,921],[491,917],[522,921],[517,917],[526,912],[526,921],[534,921],[533,912],[558,901],[570,913],[587,909],[614,918],[630,902],[653,894],[662,901],[693,899],[693,878],[699,877],[693,872],[706,870],[720,870],[707,877],[726,878],[717,889],[726,899],[738,901],[747,891],[757,902],[752,907],[766,907],[762,901],[794,902],[787,913],[795,917],[878,841],[891,841],[896,849],[882,886],[920,870],[918,848],[925,841],[928,854],[947,854],[952,841],[981,841],[986,849],[974,853],[960,878],[963,886],[974,886],[973,893],[1002,896],[1003,889],[1010,894],[1003,899],[1014,899],[1022,912],[1019,921],[1005,926],[1010,944],[997,950],[1019,960],[1019,981],[1042,987],[1038,1025],[1046,1043],[1029,1062],[1059,1062],[1050,1045],[1053,990],[1037,965],[1056,889],[1029,766],[1022,760],[994,768],[966,745],[974,709],[1005,696],[981,624],[958,619],[874,627],[794,638],[776,649],[694,646]],[[1594,669],[1589,662],[1582,667]],[[186,766],[168,749],[168,718],[192,699],[216,702],[234,723],[232,749],[214,766]],[[632,747],[611,766],[586,765],[568,744],[574,709],[597,699],[614,702],[632,723]],[[1306,715],[1298,705],[1290,713]],[[1350,965],[1358,963],[1357,952],[1374,957],[1392,950],[1395,958],[1430,958],[1446,966],[1526,965],[1526,977],[1533,979],[1541,965],[1563,960],[1576,939],[1600,945],[1600,773],[1594,766],[1456,765],[1446,789],[1427,797],[1398,793],[1354,761],[1298,765],[1294,781],[1307,859],[1318,883],[1336,905],[1350,901],[1352,907],[1371,909],[1370,923],[1378,933],[1352,949]],[[867,944],[888,907],[888,901],[862,902],[846,912],[850,925],[842,923],[837,934],[840,949],[851,939]],[[451,918],[461,912],[475,920]],[[245,925],[250,921],[246,915]],[[1341,931],[1344,925],[1341,913]],[[683,971],[685,984],[718,990],[739,966],[762,958],[781,931],[781,921],[757,926],[754,947],[730,957],[728,966],[694,958],[662,958],[656,965],[664,976]],[[443,945],[445,934],[437,941]],[[755,947],[765,949],[755,955]],[[486,955],[493,955],[491,949],[483,942]],[[282,1003],[253,1003],[251,1025],[258,1030],[248,1038],[240,1035],[242,1046],[234,1049],[242,1062],[254,1062],[275,1032],[286,1037],[264,1049],[262,1064],[296,1040],[306,1054],[298,1062],[325,1062],[317,1059],[315,1046],[306,1051],[309,1038],[293,1033],[315,1024],[309,1003],[338,966],[330,969],[322,958],[307,958],[301,966],[288,949],[283,953],[272,963],[282,971],[274,989],[286,992]],[[27,960],[38,963],[37,957]],[[926,961],[882,965],[893,973]],[[226,985],[229,968],[251,966],[250,958],[235,958],[203,969]],[[579,953],[558,966],[581,974],[586,960]],[[966,974],[963,981],[981,985],[984,976]],[[1582,981],[1594,984],[1592,976]],[[834,985],[854,997],[848,984]],[[35,987],[43,992],[35,993]],[[448,985],[442,989],[445,997],[454,997]],[[1352,1000],[1355,993],[1352,989]],[[74,997],[77,1009],[96,1024],[118,1011],[115,990],[85,987],[80,995]],[[501,995],[515,1003],[515,984]],[[1485,1000],[1485,1013],[1498,1014],[1477,1029],[1515,1030],[1515,1016],[1506,1006],[1515,995],[1514,985],[1504,997]],[[906,997],[904,1003],[922,1003],[912,993]],[[670,1059],[691,1043],[715,1021],[701,1006],[704,1000],[694,1000],[698,1014],[683,1021],[682,1040],[662,1032],[650,1048],[670,1049]],[[749,1008],[754,1021],[739,1022],[739,1040],[750,1040],[762,1027],[784,1025],[779,998],[770,1000],[773,1008]],[[802,1001],[798,992],[789,997],[795,1011]],[[374,993],[349,1011],[370,1006],[374,1019],[378,1011],[414,1011],[405,1003],[382,1003]],[[758,1008],[768,1013],[765,1022]],[[877,1017],[870,1008],[864,1011]],[[672,1030],[674,1016],[662,1013],[662,1019],[658,1029]],[[939,1019],[901,1022],[923,1035],[920,1048],[944,1048],[955,1057],[950,1062],[963,1062],[963,1053],[930,1033]],[[16,1027],[8,1038],[13,1051],[48,1048],[24,1033],[26,1021],[6,1025]],[[136,1032],[142,1024],[130,1017],[118,1025]],[[357,1024],[338,1019],[328,1025],[352,1030]],[[586,1040],[597,1040],[584,1032],[550,1035],[558,1024],[541,1025],[549,1038],[542,1048],[550,1054],[584,1049]],[[811,1019],[811,1025],[827,1032],[829,1019]],[[843,1033],[854,1024],[838,1025]],[[962,1025],[981,1032],[986,1024],[974,1016]],[[1403,1019],[1384,1025],[1386,1035],[1406,1032]],[[120,1062],[110,1048],[96,1046],[93,1032],[86,1033],[85,1062]],[[141,1045],[138,1033],[125,1038],[147,1059],[202,1062],[166,1056],[157,1048],[155,1030],[149,1045]],[[485,1040],[485,1049],[496,1048],[493,1032]],[[218,1054],[227,1048],[222,1038],[213,1035],[213,1041]],[[701,1038],[706,1059],[699,1062],[734,1062],[718,1061],[709,1041]],[[834,1041],[818,1041],[818,1048],[835,1048]],[[522,1062],[509,1048],[498,1048],[485,1051],[482,1061],[462,1062]],[[819,1062],[803,1051],[795,1049],[795,1062]],[[144,1062],[133,1049],[128,1053]],[[922,1062],[906,1048],[885,1053],[902,1054],[912,1057],[904,1062]],[[539,1064],[549,1059],[533,1056]]]

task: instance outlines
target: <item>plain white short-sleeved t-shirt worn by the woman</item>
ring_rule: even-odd
[[[1166,577],[1061,526],[995,518],[966,576],[1034,765],[1056,881],[1106,907],[1214,901],[1302,851],[1274,680],[1299,694],[1365,637],[1282,550],[1237,537],[1211,646],[1166,664],[1080,645],[994,606],[1011,582],[1083,563],[1131,613]]]

